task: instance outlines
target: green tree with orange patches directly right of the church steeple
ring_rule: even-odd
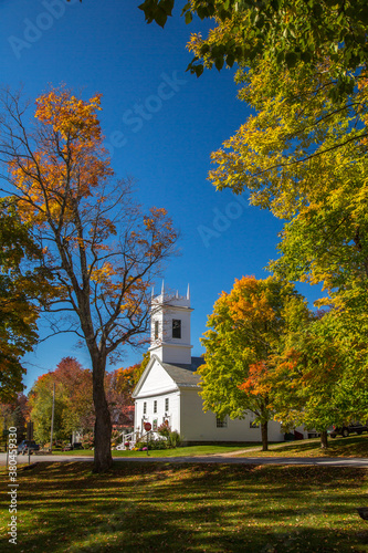
[[[299,316],[307,316],[305,302],[292,284],[273,276],[243,276],[217,300],[207,324],[210,330],[201,340],[206,354],[198,373],[204,410],[220,418],[255,413],[263,450],[267,449],[267,422],[274,416],[269,373],[275,354],[283,351],[292,304],[298,305]]]

